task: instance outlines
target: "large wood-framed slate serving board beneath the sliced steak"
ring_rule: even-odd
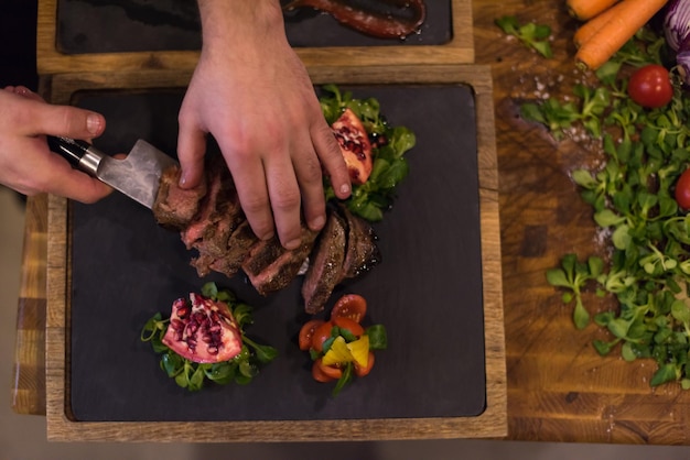
[[[390,66],[368,67],[352,77],[339,68],[311,69],[316,85],[336,83],[373,92],[384,108],[397,106],[398,114],[405,114],[403,108],[409,107],[408,122],[417,117],[427,127],[419,130],[418,149],[428,157],[418,155],[411,164],[412,171],[428,172],[409,179],[407,199],[403,189],[393,208],[397,219],[388,217],[378,227],[388,264],[384,262],[378,272],[375,269],[343,291],[363,293],[371,302],[373,316],[374,305],[380,305],[379,320],[390,329],[391,347],[386,353],[393,359],[387,363],[381,355],[379,379],[363,380],[338,398],[328,398],[327,387],[310,381],[302,365],[309,360],[291,340],[300,318],[304,319],[298,310],[295,286],[272,298],[251,298],[251,289],[239,280],[231,287],[259,306],[256,333],[263,341],[278,340],[281,361],[269,365],[247,388],[208,388],[198,395],[176,388],[160,372],[148,347],[137,344],[137,337],[140,322],[148,316],[168,309],[174,296],[201,284],[186,265],[192,254],[183,250],[177,236],[157,229],[148,210],[120,195],[91,207],[68,206],[64,199],[51,197],[46,322],[50,439],[200,441],[211,440],[211,432],[214,440],[219,440],[222,432],[220,440],[226,441],[505,436],[500,250],[488,69],[440,66],[424,76],[414,75],[409,67],[390,70]],[[87,96],[89,90],[118,89],[117,79],[108,78],[104,85],[103,77],[54,79],[54,99],[76,102],[72,97],[78,88],[87,107],[99,107],[97,96]],[[122,87],[130,90],[134,81],[142,80],[140,74],[120,74],[120,78]],[[170,78],[157,81],[154,88],[184,88],[185,80],[179,74]],[[62,85],[67,81],[68,86]],[[162,103],[174,106],[176,96],[166,96],[165,89],[159,91],[157,110]],[[427,98],[444,102],[427,106]],[[148,101],[130,101],[126,94],[122,100],[127,102],[122,117],[132,109],[145,110],[137,103]],[[462,128],[439,133],[439,128],[445,123],[452,127],[453,122]],[[155,123],[163,132],[164,120],[155,118]],[[147,131],[142,120],[134,124],[129,130]],[[465,136],[453,135],[463,130]],[[438,139],[430,135],[434,133]],[[440,141],[443,139],[451,143]],[[171,149],[164,140],[152,142]],[[468,162],[453,160],[459,157]],[[461,169],[454,174],[457,167]],[[430,174],[433,171],[435,175]],[[463,175],[467,176],[462,179]],[[443,221],[439,223],[439,219]],[[456,276],[464,283],[456,283]],[[116,305],[108,304],[114,298]],[[424,306],[425,300],[429,305]],[[106,309],[99,310],[103,306]],[[444,318],[452,320],[444,322]],[[122,336],[132,339],[120,343]],[[99,340],[103,343],[94,348]],[[122,347],[109,348],[108,342]],[[118,361],[121,359],[126,362]],[[140,379],[120,381],[112,373],[114,368],[127,365]],[[434,398],[421,397],[427,393]],[[378,396],[367,399],[371,395]],[[200,423],[186,421],[191,419]]]

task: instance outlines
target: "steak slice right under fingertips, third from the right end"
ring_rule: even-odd
[[[257,292],[267,295],[292,283],[317,236],[319,232],[302,226],[302,244],[291,251],[284,249],[277,237],[256,243],[249,250],[242,270]]]

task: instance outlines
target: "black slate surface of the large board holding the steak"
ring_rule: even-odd
[[[386,325],[389,348],[371,374],[336,398],[312,380],[297,333],[308,319],[299,287],[260,297],[244,276],[200,280],[193,255],[150,211],[120,194],[73,204],[69,397],[76,420],[304,420],[472,417],[486,406],[475,106],[471,87],[352,87],[376,97],[392,124],[414,131],[410,175],[376,224],[384,262],[338,286],[332,302],[359,293],[369,319]],[[82,94],[108,130],[96,145],[126,152],[143,138],[172,153],[182,91]],[[280,351],[248,386],[191,394],[168,379],[144,321],[206,281],[255,306],[248,333]],[[328,305],[328,308],[332,304]]]

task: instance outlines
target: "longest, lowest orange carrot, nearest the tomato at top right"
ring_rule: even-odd
[[[668,0],[622,0],[618,13],[580,46],[579,66],[596,70],[635,35]]]

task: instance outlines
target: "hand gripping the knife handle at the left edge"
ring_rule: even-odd
[[[23,86],[0,89],[0,184],[26,196],[45,191],[97,201],[112,189],[51,152],[45,134],[90,140],[105,127],[101,114],[46,103]]]

